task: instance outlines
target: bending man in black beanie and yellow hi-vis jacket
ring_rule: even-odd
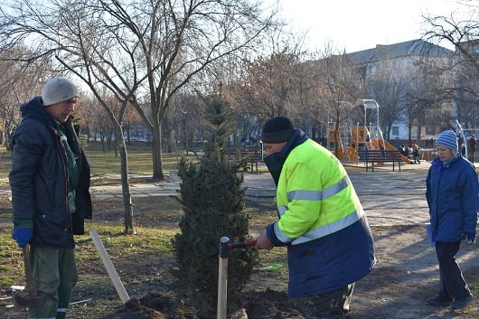
[[[343,164],[288,117],[269,119],[261,140],[277,184],[279,220],[255,248],[287,246],[288,294],[304,298],[305,318],[343,318],[355,282],[376,263],[361,202]]]

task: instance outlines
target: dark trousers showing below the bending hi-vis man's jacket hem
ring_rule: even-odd
[[[340,319],[349,312],[354,283],[332,292],[304,298],[305,319]]]

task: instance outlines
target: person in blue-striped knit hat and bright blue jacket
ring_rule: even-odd
[[[458,154],[454,131],[439,134],[436,149],[438,157],[427,173],[426,199],[440,285],[437,296],[427,298],[427,303],[462,309],[473,300],[473,295],[456,262],[456,254],[462,240],[475,242],[479,183],[474,165]]]

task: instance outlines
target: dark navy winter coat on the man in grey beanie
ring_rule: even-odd
[[[84,219],[91,219],[89,164],[71,117],[62,124],[45,110],[36,97],[20,107],[23,120],[12,136],[12,189],[15,227],[33,227],[31,243],[42,247],[73,248],[74,234],[84,233]],[[62,127],[79,155],[76,211],[68,205],[68,164],[58,128]]]

